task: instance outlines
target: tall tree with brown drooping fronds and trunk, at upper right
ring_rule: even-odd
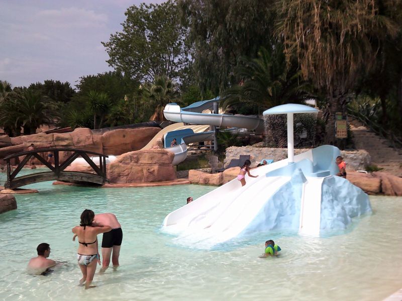
[[[326,91],[326,142],[335,144],[335,112],[346,113],[359,75],[374,65],[374,46],[397,27],[372,0],[280,0],[277,7],[287,59],[296,57],[304,78]]]

